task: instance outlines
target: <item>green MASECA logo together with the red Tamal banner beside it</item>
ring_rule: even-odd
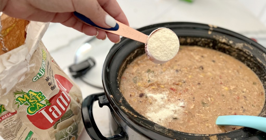
[[[49,79],[49,77],[47,77]],[[40,129],[48,129],[52,127],[66,112],[71,97],[68,95],[70,89],[73,87],[68,79],[61,75],[55,75],[57,87],[59,92],[47,100],[41,91],[29,90],[27,93],[24,91],[15,92],[16,103],[18,106],[27,106],[27,117],[33,125]],[[22,94],[22,95],[20,95]],[[43,102],[42,102],[43,101]]]

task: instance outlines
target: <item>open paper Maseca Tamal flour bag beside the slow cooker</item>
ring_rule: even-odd
[[[76,140],[84,127],[81,91],[41,42],[48,23],[1,18],[0,136]]]

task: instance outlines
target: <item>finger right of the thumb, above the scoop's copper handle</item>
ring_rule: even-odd
[[[101,7],[117,21],[129,26],[126,15],[116,0],[98,0]]]

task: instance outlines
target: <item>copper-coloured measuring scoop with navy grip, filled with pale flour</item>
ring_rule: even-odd
[[[156,30],[154,30],[149,36],[146,34],[143,34],[140,31],[137,31],[119,21],[116,21],[116,25],[115,27],[111,27],[111,28],[103,28],[100,27],[98,25],[96,25],[95,23],[93,23],[89,18],[85,17],[84,15],[78,13],[78,12],[74,12],[74,15],[80,19],[81,21],[83,21],[84,23],[94,26],[98,29],[113,33],[113,34],[117,34],[126,38],[130,38],[133,39],[135,41],[139,41],[142,43],[145,43],[145,53],[147,54],[148,58],[154,62],[154,63],[165,63],[167,61],[169,61],[170,59],[172,59],[178,52],[179,50],[179,40],[178,37],[176,36],[176,34],[167,28],[158,28]],[[149,44],[147,43],[149,41],[149,38],[151,38],[151,36],[156,33],[159,30],[170,30],[171,32],[168,31],[168,33],[170,34],[174,34],[174,38],[176,39],[170,39],[171,41],[174,41],[174,45],[171,46],[165,46],[164,44],[169,44],[166,41],[168,41],[167,37],[168,36],[155,36],[155,39],[153,38],[153,40],[161,40],[163,42],[160,42],[161,45],[155,45],[156,42],[149,42]],[[158,32],[157,32],[158,34]],[[151,45],[150,45],[151,44]]]

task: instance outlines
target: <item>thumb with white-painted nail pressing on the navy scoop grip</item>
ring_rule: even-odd
[[[116,25],[115,19],[102,9],[97,0],[73,0],[73,6],[78,13],[85,15],[100,27],[110,28]]]

